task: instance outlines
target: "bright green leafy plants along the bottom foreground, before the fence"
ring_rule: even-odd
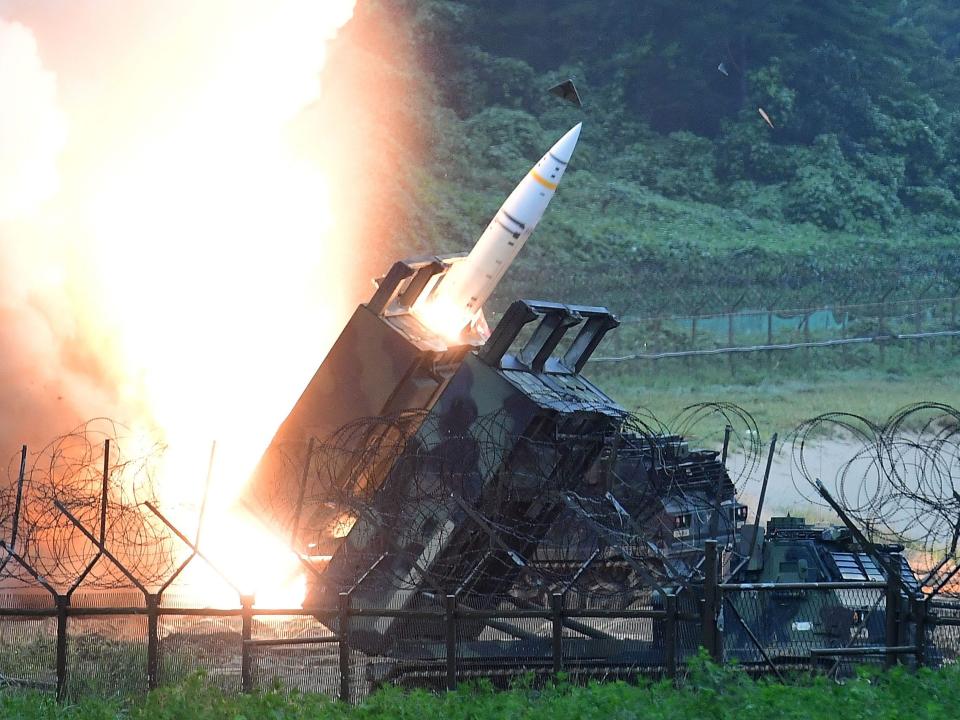
[[[579,687],[562,679],[544,688],[516,687],[496,692],[488,685],[463,687],[434,695],[424,691],[387,689],[358,707],[347,707],[320,695],[285,694],[279,689],[259,695],[226,696],[201,677],[151,693],[129,704],[85,700],[58,706],[49,696],[0,693],[0,718],[46,720],[235,720],[238,718],[656,718],[657,720],[780,720],[835,717],[914,720],[948,717],[960,702],[956,668],[861,671],[844,684],[824,678],[797,678],[789,684],[755,682],[742,672],[698,661],[685,685],[668,682],[629,685],[622,682]]]

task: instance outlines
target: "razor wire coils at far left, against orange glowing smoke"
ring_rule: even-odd
[[[172,539],[143,508],[144,502],[156,499],[153,474],[165,448],[153,444],[128,457],[122,444],[129,437],[123,426],[97,418],[33,454],[22,479],[19,453],[11,460],[8,483],[0,489],[0,529],[23,562],[7,558],[0,580],[35,584],[35,573],[63,592],[81,581],[90,588],[129,587],[130,580],[115,563],[104,559],[89,567],[101,537],[145,585],[159,582],[170,571]]]

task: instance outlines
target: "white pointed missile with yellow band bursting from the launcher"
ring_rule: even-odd
[[[580,138],[577,123],[547,151],[506,199],[470,254],[414,309],[429,327],[457,337],[483,304],[543,217]]]

